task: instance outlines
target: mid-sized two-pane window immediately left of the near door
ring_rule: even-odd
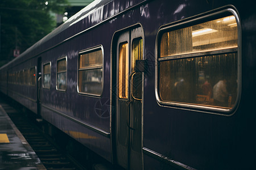
[[[103,90],[102,46],[79,54],[79,92],[100,96]]]

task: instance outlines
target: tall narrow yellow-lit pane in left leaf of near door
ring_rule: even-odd
[[[118,67],[118,81],[119,81],[119,98],[127,99],[128,97],[128,80],[129,80],[129,56],[128,56],[128,42],[119,45],[119,67]]]

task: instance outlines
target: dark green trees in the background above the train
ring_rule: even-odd
[[[24,52],[56,27],[52,15],[63,14],[68,0],[1,0],[0,66]]]

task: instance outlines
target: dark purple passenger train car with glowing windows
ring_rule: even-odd
[[[254,169],[256,3],[94,1],[1,92],[125,169]]]

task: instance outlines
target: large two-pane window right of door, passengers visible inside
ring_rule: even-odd
[[[167,30],[159,38],[160,103],[225,111],[234,107],[238,95],[235,16]]]

